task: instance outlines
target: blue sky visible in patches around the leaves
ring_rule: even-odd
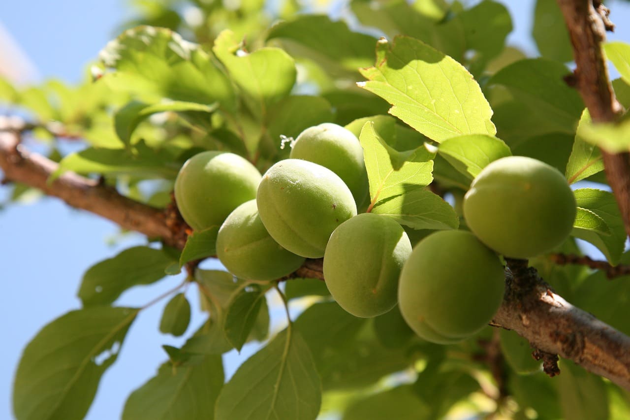
[[[536,52],[529,39],[533,2],[503,1],[512,9],[515,32],[512,44]],[[628,3],[609,2],[619,24],[610,39],[630,40]],[[624,6],[623,10],[620,6]],[[130,17],[122,0],[21,0],[4,1],[0,23],[30,57],[41,78],[78,81],[86,64],[93,60],[120,21]],[[6,189],[0,189],[0,201]],[[12,418],[11,383],[20,353],[43,325],[70,309],[79,308],[76,291],[83,272],[96,262],[112,257],[125,248],[144,243],[140,235],[130,235],[116,245],[108,245],[117,235],[117,226],[91,214],[69,209],[55,199],[33,205],[10,206],[0,213],[0,262],[3,265],[0,317],[3,346],[0,356],[0,418]],[[154,286],[125,293],[119,305],[139,306],[180,283],[168,278]],[[197,312],[196,296],[190,295]],[[143,311],[127,335],[117,363],[101,380],[88,419],[120,417],[129,393],[152,376],[165,359],[162,344],[177,345],[181,340],[157,332],[163,301]],[[198,312],[197,312],[198,313]],[[198,325],[201,317],[193,318]],[[253,351],[248,347],[244,353]],[[228,371],[236,367],[230,356]]]

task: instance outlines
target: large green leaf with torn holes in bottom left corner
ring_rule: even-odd
[[[18,419],[83,419],[114,363],[135,308],[96,306],[50,322],[28,343],[13,386]]]

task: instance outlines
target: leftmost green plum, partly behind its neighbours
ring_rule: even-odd
[[[175,201],[193,230],[221,226],[240,204],[256,198],[261,175],[239,155],[205,151],[188,159],[175,180]]]

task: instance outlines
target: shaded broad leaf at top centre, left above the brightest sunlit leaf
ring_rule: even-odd
[[[370,65],[376,42],[374,37],[353,32],[345,22],[331,21],[325,15],[297,15],[273,25],[267,38],[291,40],[350,71]]]

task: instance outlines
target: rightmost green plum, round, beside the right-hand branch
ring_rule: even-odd
[[[557,247],[573,229],[576,201],[564,175],[524,156],[493,161],[464,197],[467,226],[506,257],[528,259]]]

